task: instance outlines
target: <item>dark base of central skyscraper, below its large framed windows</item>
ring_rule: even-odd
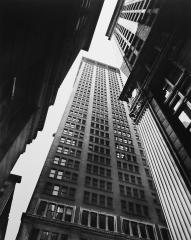
[[[99,219],[98,219],[99,220]],[[168,231],[158,234],[158,229],[154,230],[154,235],[148,233],[143,236],[143,231],[138,228],[138,235],[125,234],[124,232],[97,229],[85,225],[71,222],[56,222],[35,215],[23,214],[22,223],[16,240],[168,240]],[[142,234],[142,236],[141,236]]]

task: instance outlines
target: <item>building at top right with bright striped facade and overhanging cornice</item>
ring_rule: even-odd
[[[106,35],[114,39],[132,70],[163,0],[119,0]]]

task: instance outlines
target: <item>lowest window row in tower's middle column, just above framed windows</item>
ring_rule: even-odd
[[[103,208],[113,208],[113,199],[102,194],[84,191],[84,203]]]

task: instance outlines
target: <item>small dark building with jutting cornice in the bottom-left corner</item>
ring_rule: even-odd
[[[9,178],[0,188],[0,240],[3,240],[5,237],[15,184],[20,182],[20,176],[10,174]]]

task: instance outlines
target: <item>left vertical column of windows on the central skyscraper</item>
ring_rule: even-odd
[[[83,62],[77,88],[71,108],[64,125],[56,156],[52,161],[45,192],[57,197],[74,199],[78,184],[78,172],[87,121],[87,110],[90,99],[91,76],[87,63]],[[87,71],[86,71],[87,70]],[[57,183],[55,184],[55,180]],[[67,182],[67,186],[65,185]]]

